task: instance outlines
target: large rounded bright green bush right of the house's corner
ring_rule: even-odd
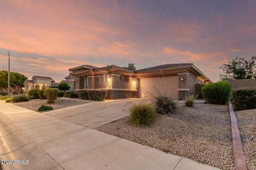
[[[231,85],[227,81],[207,84],[201,89],[206,103],[225,105],[230,96]]]

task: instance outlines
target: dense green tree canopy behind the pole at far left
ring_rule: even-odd
[[[23,83],[25,80],[28,78],[20,73],[17,72],[11,72],[10,73],[10,86],[11,87],[23,87]],[[2,70],[0,71],[0,88],[1,89],[6,89],[8,88],[8,71]]]

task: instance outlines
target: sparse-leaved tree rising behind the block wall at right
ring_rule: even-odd
[[[249,60],[236,57],[220,68],[223,69],[221,79],[256,79],[256,56]]]

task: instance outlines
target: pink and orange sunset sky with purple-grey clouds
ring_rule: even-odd
[[[63,80],[83,64],[194,63],[213,81],[256,55],[256,1],[0,0],[0,70]]]

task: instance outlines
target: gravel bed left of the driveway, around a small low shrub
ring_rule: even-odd
[[[88,102],[86,102],[86,101],[77,101],[77,100],[57,99],[57,101],[55,101],[55,103],[47,104],[46,99],[44,99],[44,100],[35,99],[35,100],[27,101],[27,102],[13,103],[13,104],[17,105],[17,106],[25,107],[25,108],[30,109],[32,111],[37,111],[38,108],[41,105],[52,106],[53,109],[56,110],[56,109],[75,106],[75,105],[82,105],[82,104],[85,104],[85,103],[88,103]]]

